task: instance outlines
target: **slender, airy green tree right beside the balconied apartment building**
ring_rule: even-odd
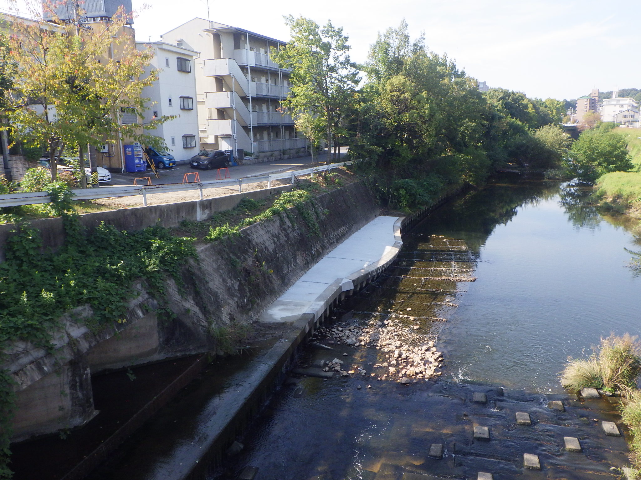
[[[327,161],[331,147],[342,132],[344,109],[353,102],[360,77],[349,58],[349,38],[331,22],[319,24],[304,17],[285,17],[292,40],[273,53],[274,61],[292,69],[290,95],[283,107],[297,116],[311,115],[324,126]]]

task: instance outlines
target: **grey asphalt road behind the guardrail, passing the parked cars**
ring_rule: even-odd
[[[343,149],[341,149],[343,150]],[[344,156],[344,153],[341,153]],[[315,164],[318,161],[317,156],[314,156]],[[321,161],[324,161],[325,156],[320,156]],[[287,160],[276,160],[272,162],[265,163],[256,163],[253,165],[238,165],[229,167],[229,175],[232,179],[238,179],[240,177],[251,177],[253,175],[264,175],[265,173],[274,173],[274,172],[287,172],[288,170],[301,170],[303,168],[310,168],[312,166],[312,157],[300,157],[300,158],[290,158]],[[217,170],[202,170],[200,168],[190,168],[189,164],[181,164],[174,166],[174,168],[168,168],[166,170],[158,170],[160,174],[160,179],[154,177],[154,173],[151,170],[147,172],[137,172],[137,173],[112,173],[112,181],[103,184],[104,186],[115,186],[115,185],[133,185],[133,180],[142,177],[151,177],[151,183],[153,185],[167,184],[167,183],[181,183],[185,177],[185,173],[198,172],[199,179],[201,181],[206,180],[216,180],[217,179]],[[190,181],[194,181],[193,177],[190,178]],[[138,181],[138,184],[141,184]]]

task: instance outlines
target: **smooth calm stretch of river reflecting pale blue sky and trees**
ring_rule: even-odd
[[[601,214],[589,195],[576,184],[499,181],[416,228],[478,252],[478,280],[443,331],[453,378],[559,391],[567,356],[611,331],[641,332],[640,277],[624,250],[639,250],[629,234],[637,222]]]

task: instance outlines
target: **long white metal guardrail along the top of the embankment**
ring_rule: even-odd
[[[353,164],[353,161],[331,163],[329,165],[314,166],[294,172],[271,173],[269,175],[254,175],[253,177],[240,177],[240,179],[208,180],[206,182],[193,183],[168,183],[149,186],[104,186],[99,188],[72,189],[74,200],[97,200],[98,198],[114,198],[120,196],[142,195],[142,203],[147,206],[147,195],[153,193],[169,193],[172,191],[198,190],[203,200],[203,190],[208,188],[219,188],[238,186],[238,192],[242,192],[242,186],[258,182],[267,182],[267,188],[272,187],[272,181],[290,179],[293,184],[299,175],[313,175],[320,172],[329,172],[332,168],[338,168]],[[51,197],[47,192],[38,191],[33,193],[8,193],[0,195],[0,207],[18,207],[20,205],[48,204]]]

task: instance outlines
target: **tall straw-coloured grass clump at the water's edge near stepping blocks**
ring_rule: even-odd
[[[572,392],[592,387],[628,396],[637,386],[641,374],[640,356],[641,344],[637,337],[629,333],[617,337],[612,333],[601,339],[589,358],[568,358],[561,380]]]

